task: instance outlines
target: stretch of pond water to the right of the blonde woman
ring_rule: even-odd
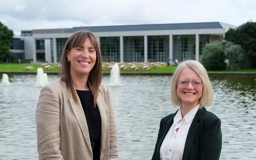
[[[211,78],[214,103],[222,120],[222,159],[256,159],[256,77]]]

